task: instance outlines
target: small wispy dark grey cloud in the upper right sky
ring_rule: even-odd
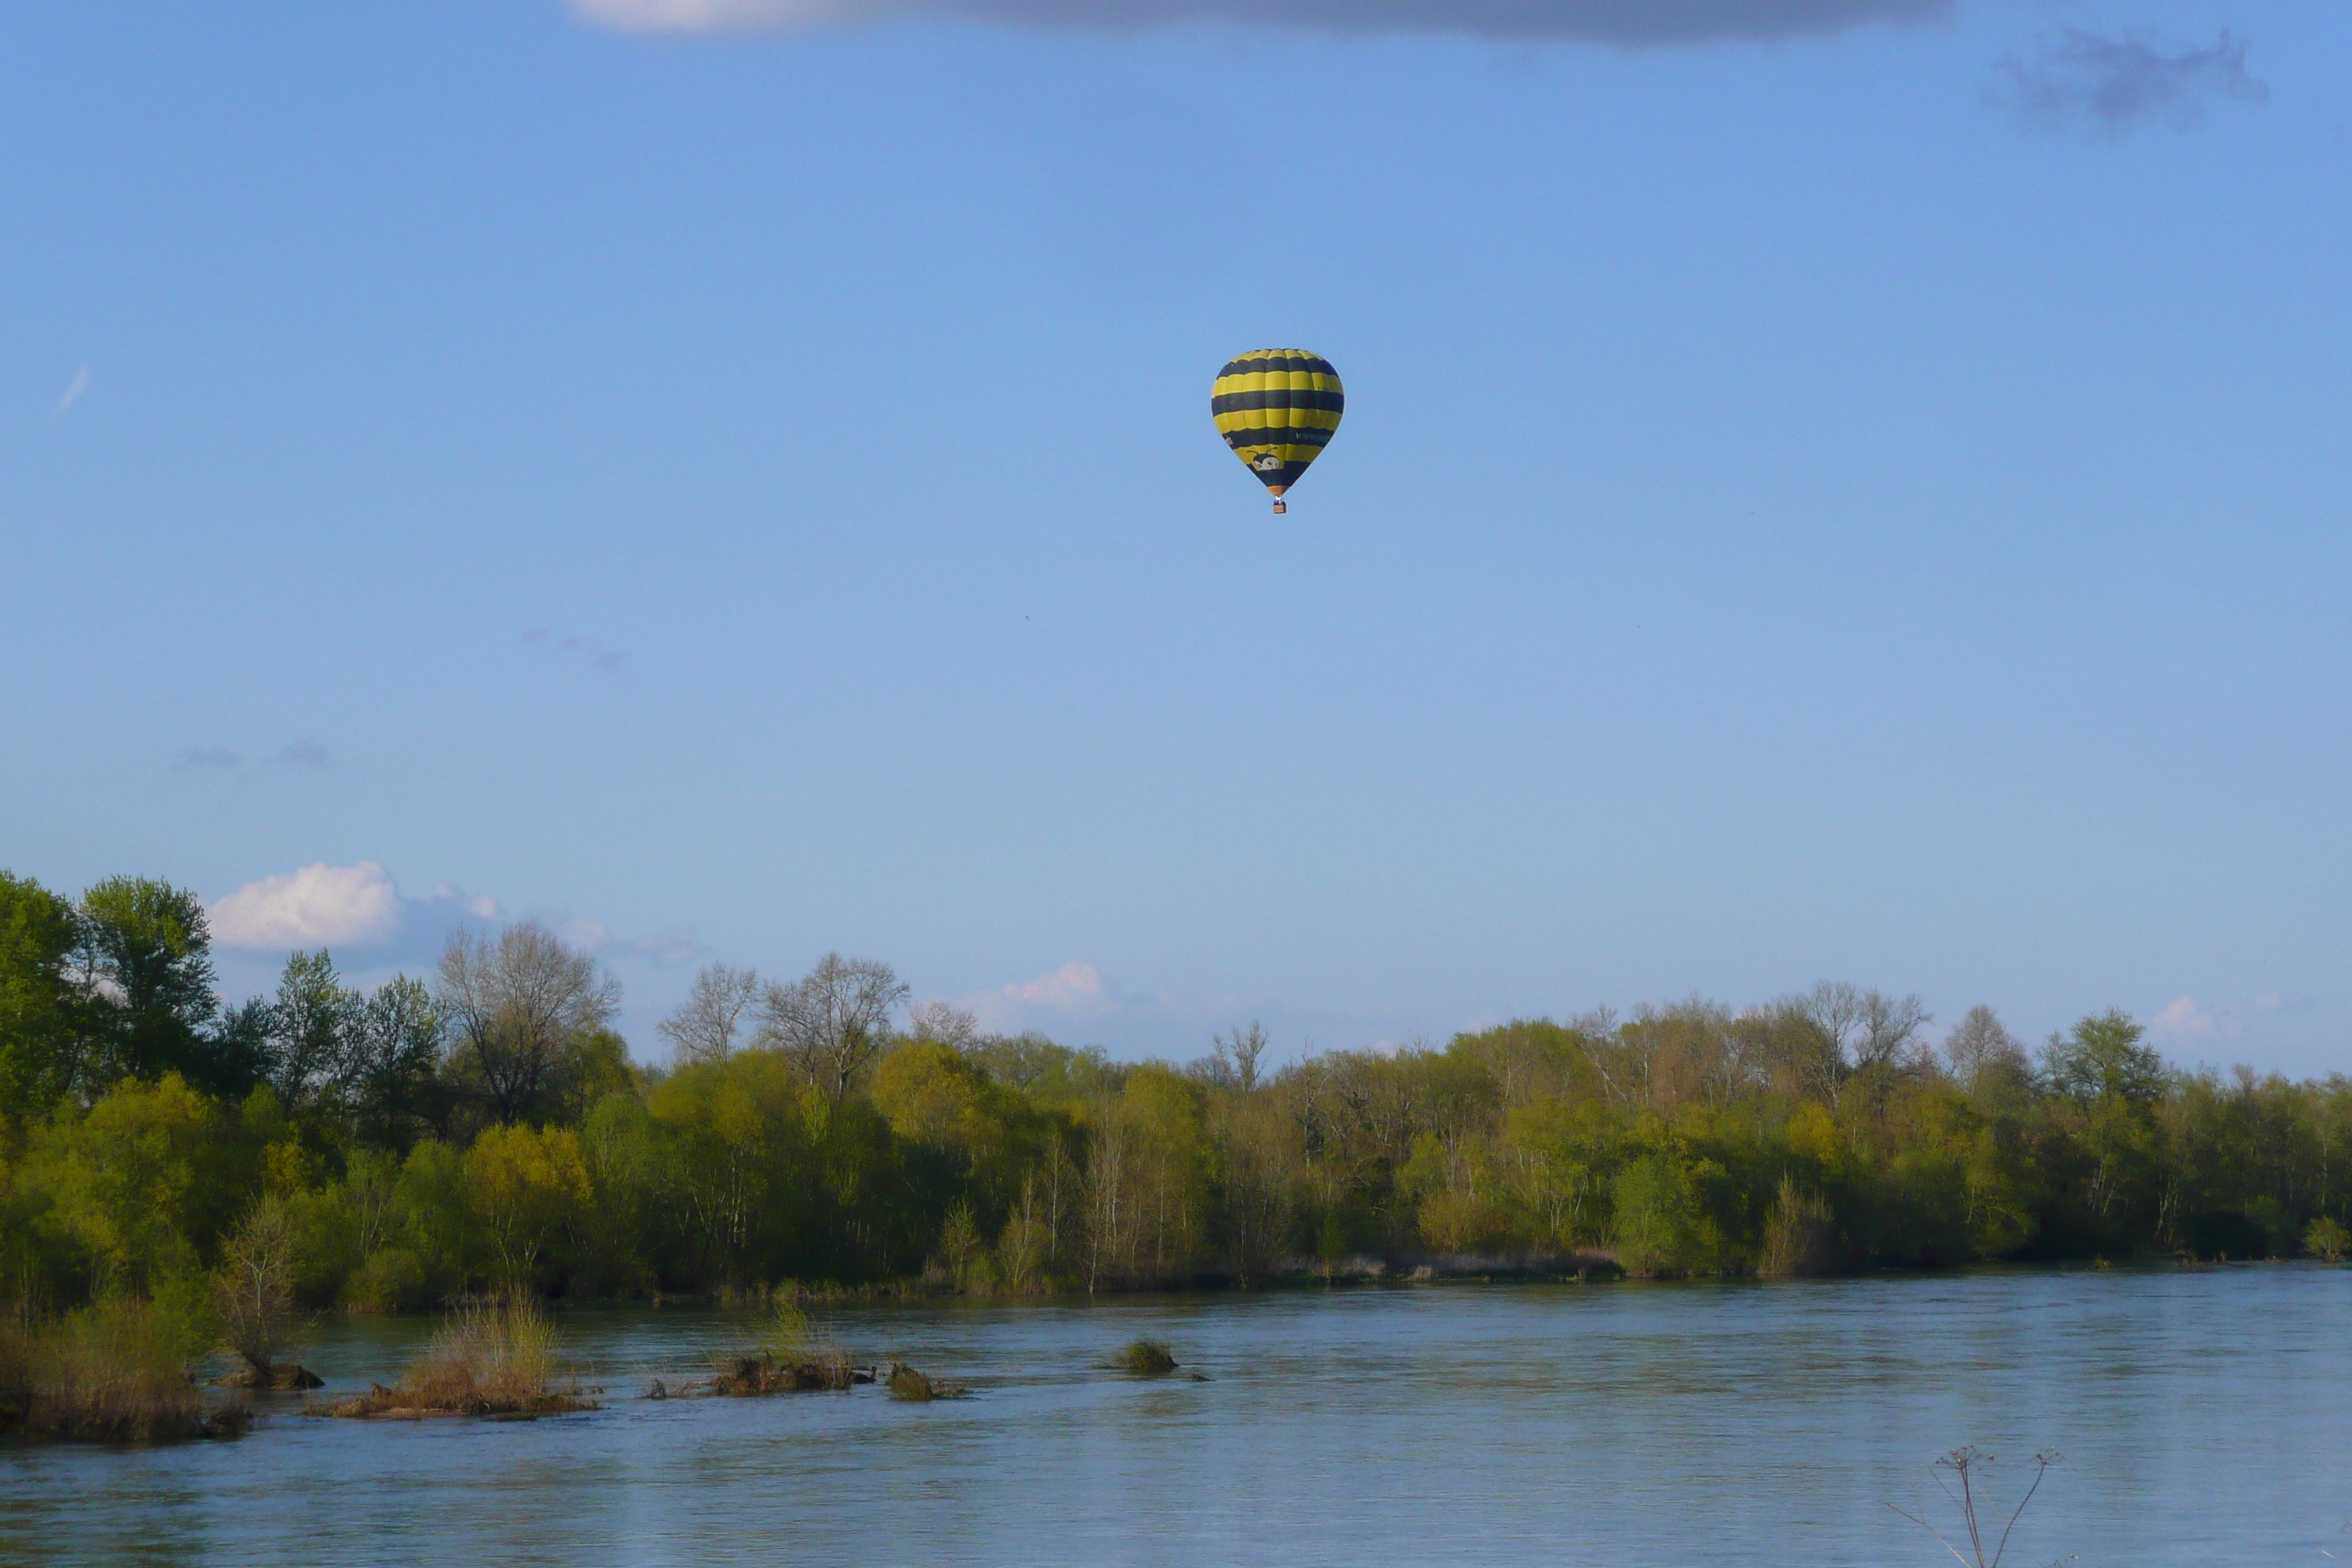
[[[1992,73],[1985,99],[2027,125],[2110,136],[2143,125],[2192,129],[2213,99],[2270,99],[2270,87],[2246,73],[2246,40],[2227,28],[2211,49],[2169,45],[2147,28],[2060,28],[2039,40],[2032,59],[2002,56]]]

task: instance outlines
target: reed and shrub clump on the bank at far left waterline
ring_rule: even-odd
[[[172,1443],[238,1436],[245,1406],[209,1408],[179,1316],[111,1300],[49,1324],[0,1328],[0,1432],[61,1443]]]

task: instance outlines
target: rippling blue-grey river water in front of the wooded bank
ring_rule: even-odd
[[[649,1401],[755,1314],[560,1314],[604,1408],[238,1443],[0,1450],[0,1563],[1950,1561],[1933,1455],[2013,1497],[2011,1563],[2352,1559],[2352,1269],[1416,1286],[814,1314],[976,1394]],[[419,1321],[320,1326],[336,1387]],[[1101,1363],[1164,1338],[1185,1373]]]

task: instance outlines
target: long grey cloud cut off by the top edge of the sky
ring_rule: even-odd
[[[630,33],[844,28],[955,16],[1018,28],[1124,33],[1176,24],[1315,33],[1465,33],[1621,47],[1799,38],[1872,21],[1943,21],[1955,0],[572,0]]]

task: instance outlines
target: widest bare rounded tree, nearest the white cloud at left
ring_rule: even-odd
[[[520,1121],[555,1086],[564,1048],[612,1023],[621,983],[527,919],[496,940],[452,931],[433,999],[480,1079],[492,1119]]]

